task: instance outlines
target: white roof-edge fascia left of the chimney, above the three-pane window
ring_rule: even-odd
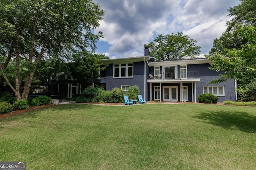
[[[143,56],[143,57],[128,57],[128,58],[120,58],[120,59],[102,59],[99,61],[99,63],[102,64],[122,64],[122,63],[133,63],[133,62],[139,62],[152,59],[154,57],[150,56]]]

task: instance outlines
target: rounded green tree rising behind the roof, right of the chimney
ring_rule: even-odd
[[[182,32],[172,33],[172,35],[161,34],[154,41],[144,47],[148,47],[150,56],[156,57],[158,61],[195,58],[200,54],[200,47],[196,45],[196,40],[183,35]]]

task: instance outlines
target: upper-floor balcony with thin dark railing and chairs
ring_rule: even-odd
[[[150,74],[152,76],[150,76]],[[154,73],[149,73],[148,80],[175,80],[175,79],[195,79],[199,78],[199,71],[188,71],[187,75],[184,75],[185,78],[180,78],[178,72],[162,72],[161,76],[154,76]],[[163,76],[164,75],[164,76]]]

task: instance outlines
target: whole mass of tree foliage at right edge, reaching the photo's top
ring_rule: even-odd
[[[211,70],[224,71],[220,78],[211,83],[238,80],[245,87],[256,78],[256,0],[240,0],[241,4],[229,8],[232,20],[213,48],[206,55],[212,61]],[[254,19],[253,19],[254,18]]]

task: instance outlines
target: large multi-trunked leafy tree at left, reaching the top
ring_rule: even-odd
[[[102,32],[95,35],[92,29],[99,26],[103,15],[99,4],[92,0],[2,0],[0,74],[17,100],[27,99],[42,59],[55,57],[68,61],[74,53],[93,51]],[[15,61],[15,85],[10,83],[6,72],[11,59]],[[21,68],[22,59],[26,63]],[[25,70],[25,80],[21,80],[21,69]],[[25,82],[22,92],[21,81]]]

